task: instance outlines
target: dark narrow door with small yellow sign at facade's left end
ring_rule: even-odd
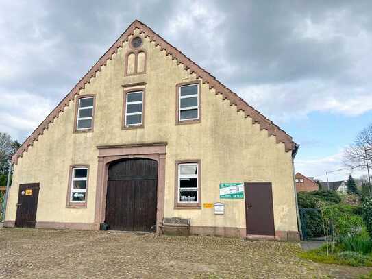
[[[38,183],[19,184],[16,227],[35,228],[39,189]]]

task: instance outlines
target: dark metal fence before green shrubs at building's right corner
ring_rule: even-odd
[[[324,223],[321,210],[317,208],[299,208],[303,240],[332,241],[332,223]],[[327,226],[326,226],[327,225]]]

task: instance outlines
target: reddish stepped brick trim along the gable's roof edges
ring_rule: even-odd
[[[49,124],[53,123],[54,119],[59,116],[60,112],[63,112],[64,108],[69,106],[70,101],[74,99],[75,95],[79,94],[80,89],[84,89],[86,84],[90,83],[90,79],[95,77],[97,72],[101,71],[101,66],[106,65],[107,61],[112,58],[112,55],[117,53],[119,47],[123,46],[123,42],[127,41],[129,36],[134,35],[134,29],[140,29],[141,34],[145,38],[149,38],[151,42],[154,41],[156,46],[160,46],[161,51],[164,50],[166,52],[166,55],[170,55],[173,59],[177,59],[177,63],[183,64],[185,70],[189,70],[191,74],[195,73],[195,75],[197,75],[197,79],[202,79],[203,83],[208,83],[209,88],[214,88],[216,94],[223,95],[223,99],[229,99],[230,105],[235,105],[237,111],[243,111],[245,117],[251,117],[253,123],[260,124],[261,130],[267,130],[269,132],[269,136],[275,136],[277,143],[284,143],[286,151],[295,149],[295,143],[293,142],[292,138],[286,134],[286,132],[284,132],[284,130],[281,130],[272,121],[260,114],[258,110],[255,110],[252,106],[249,106],[243,99],[238,97],[236,93],[232,92],[232,90],[221,84],[221,82],[216,80],[212,75],[210,75],[210,73],[187,58],[184,53],[173,47],[173,45],[167,43],[161,36],[147,27],[147,25],[136,20],[129,25],[125,32],[118,38],[118,40],[116,40],[114,45],[112,45],[110,49],[108,49],[108,51],[106,51],[106,53],[99,58],[98,62],[92,66],[92,68],[88,71],[88,73],[86,73],[86,75],[84,75],[84,77],[82,77],[81,80],[79,80],[70,93],[67,94],[64,99],[62,99],[60,104],[54,108],[54,110],[44,121],[42,121],[38,128],[36,128],[36,130],[34,130],[34,132],[23,142],[21,147],[16,151],[16,154],[14,154],[12,158],[12,162],[14,164],[18,162],[18,158],[23,155],[23,152],[27,151],[29,146],[32,146],[34,141],[38,139],[38,136],[42,135],[44,130],[48,129]]]

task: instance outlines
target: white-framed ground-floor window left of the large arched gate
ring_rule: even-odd
[[[88,180],[87,167],[74,167],[71,175],[71,203],[86,202],[86,184]]]

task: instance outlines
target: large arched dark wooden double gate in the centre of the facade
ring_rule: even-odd
[[[158,162],[133,158],[108,169],[106,223],[109,230],[149,232],[156,226]]]

